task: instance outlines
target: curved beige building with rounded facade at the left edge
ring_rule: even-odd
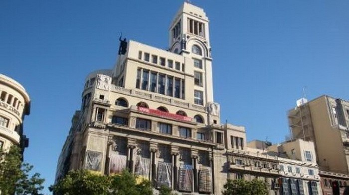
[[[23,134],[23,120],[30,112],[30,99],[24,87],[0,74],[0,148],[18,145],[24,151],[28,138]]]

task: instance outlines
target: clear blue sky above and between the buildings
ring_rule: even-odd
[[[182,0],[1,0],[0,73],[31,98],[25,161],[53,183],[85,76],[112,68],[123,32],[166,49]],[[302,97],[349,99],[349,1],[191,0],[210,19],[214,98],[248,140],[281,142]],[[48,192],[46,189],[45,192]]]

